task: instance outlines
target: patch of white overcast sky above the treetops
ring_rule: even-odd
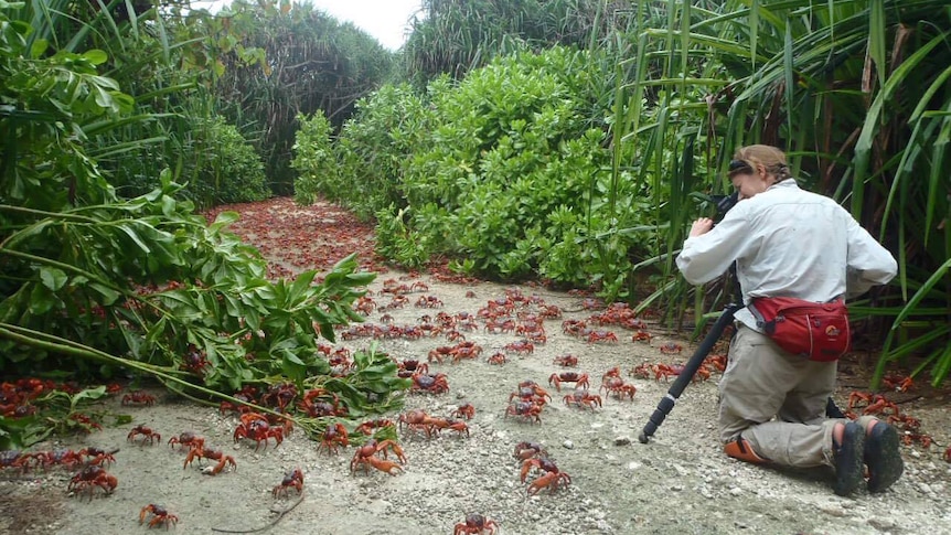
[[[309,0],[316,8],[334,19],[350,21],[376,38],[380,44],[395,51],[403,46],[410,18],[423,0]],[[192,1],[196,8],[217,11],[228,1]]]

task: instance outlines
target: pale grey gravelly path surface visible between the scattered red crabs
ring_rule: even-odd
[[[285,205],[275,210],[287,215],[290,208]],[[331,212],[328,206],[309,210]],[[384,274],[374,282],[378,304],[389,301],[380,292],[383,281],[400,275]],[[393,324],[402,325],[418,324],[420,317],[439,312],[476,314],[490,300],[504,299],[506,291],[512,296],[515,290],[570,311],[544,322],[547,343],[536,344],[531,354],[504,350],[521,336],[480,328],[464,332],[467,340],[482,346],[479,359],[430,365],[430,373],[447,375],[449,392],[407,396],[402,411],[421,408],[430,415],[448,417],[459,405],[469,403],[476,416],[468,421],[468,438],[444,431],[427,439],[423,434],[403,431],[399,440],[407,462],[402,473],[352,474],[352,448],[336,456],[318,453],[316,442],[296,434],[278,448],[255,452],[253,442],[234,445],[234,416],[221,416],[212,408],[154,390],[159,396],[154,406],[130,409],[116,404],[117,411],[132,414],[133,422],[128,426],[105,429],[84,442],[34,447],[76,448],[86,443],[120,448],[110,468],[119,480],[111,495],[97,493],[92,501],[68,496],[65,488],[72,473],[51,471],[18,479],[0,472],[0,477],[8,475],[0,481],[0,532],[146,532],[138,518],[141,507],[149,503],[161,504],[178,515],[179,533],[260,528],[278,517],[276,511],[297,504],[296,491],[291,490],[286,499],[275,499],[271,490],[286,472],[300,468],[304,473],[302,500],[270,532],[449,534],[467,514],[480,513],[498,523],[503,534],[951,533],[951,464],[941,459],[951,439],[947,395],[939,397],[929,392],[923,399],[901,405],[902,410],[921,420],[922,432],[931,435],[936,442],[927,450],[920,445],[904,449],[905,478],[884,495],[862,492],[854,499],[842,499],[831,492],[831,474],[824,470],[788,473],[723,456],[714,429],[717,375],[687,387],[654,439],[648,445],[638,442],[638,434],[670,384],[632,377],[628,371],[644,363],[683,362],[694,349],[687,341],[665,336],[656,327],[649,327],[654,339],[633,342],[630,331],[606,327],[617,334],[618,343],[588,343],[562,331],[564,320],[585,320],[598,312],[584,310],[579,297],[526,286],[445,283],[427,275],[406,280],[416,281],[424,282],[428,290],[410,295],[410,303],[402,309],[374,311],[367,323],[382,324],[383,313],[393,317]],[[420,296],[435,296],[442,306],[416,308],[413,300]],[[682,344],[683,352],[662,354],[659,347],[666,342]],[[357,350],[371,343],[371,339],[357,338],[338,346]],[[429,351],[450,344],[442,335],[424,336],[382,340],[377,350],[397,361],[425,361]],[[507,363],[487,362],[488,356],[500,351],[507,353]],[[578,357],[576,368],[553,363],[568,354]],[[548,385],[553,373],[584,372],[590,377],[594,394],[601,376],[615,366],[622,371],[624,381],[637,387],[633,400],[605,397],[602,407],[579,409],[563,403],[563,397],[574,392],[570,385],[560,393]],[[855,366],[850,370],[857,373]],[[553,396],[539,415],[541,424],[503,416],[510,394],[525,379],[535,381]],[[846,384],[859,382],[852,375],[844,379]],[[847,394],[848,389],[841,392],[841,404]],[[915,394],[912,390],[906,397],[913,398]],[[396,419],[397,414],[388,417]],[[162,441],[156,446],[127,442],[127,434],[139,424],[161,432]],[[201,467],[183,469],[184,453],[165,445],[170,437],[183,431],[204,436],[210,445],[223,448],[234,457],[237,470],[210,477],[202,474]],[[570,485],[530,497],[526,489],[538,475],[533,472],[526,483],[520,481],[521,462],[512,453],[521,441],[543,445],[560,471],[570,475]]]

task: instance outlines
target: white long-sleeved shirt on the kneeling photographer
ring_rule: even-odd
[[[694,285],[737,264],[744,304],[755,297],[825,302],[884,285],[898,272],[891,254],[835,201],[801,190],[793,179],[740,201],[714,228],[688,237],[676,259]],[[736,314],[747,327],[747,309]]]

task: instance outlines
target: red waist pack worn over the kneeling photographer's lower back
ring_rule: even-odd
[[[848,309],[836,299],[755,298],[747,307],[757,325],[783,350],[810,361],[832,362],[848,351]]]

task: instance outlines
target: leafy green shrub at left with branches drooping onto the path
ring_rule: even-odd
[[[371,349],[354,356],[354,374],[330,377],[318,351],[319,336],[333,341],[335,325],[362,320],[352,303],[375,275],[357,271],[356,255],[320,282],[314,271],[270,280],[260,253],[227,232],[237,214],[209,225],[170,170],[158,188],[119,199],[88,156],[99,138],[87,132],[133,143],[121,138],[125,127],[150,117],[128,115],[133,99],[98,73],[104,52],[47,55],[50,43],[29,45],[30,24],[7,13],[0,1],[0,131],[9,132],[0,137],[3,377],[92,381],[122,370],[185,396],[232,402],[228,393],[249,384],[321,383],[351,418],[400,403],[409,382],[385,354]],[[188,156],[191,173],[213,182],[223,202],[266,193],[237,130],[220,119],[203,127],[195,139],[210,142]],[[82,397],[53,419],[0,418],[0,447],[42,439]],[[312,435],[327,424],[296,418]]]

